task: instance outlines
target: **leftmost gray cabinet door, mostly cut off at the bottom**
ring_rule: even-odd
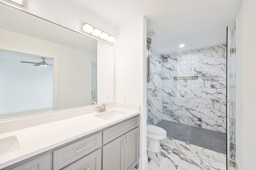
[[[48,153],[38,158],[29,160],[24,164],[8,170],[50,170],[50,154]]]

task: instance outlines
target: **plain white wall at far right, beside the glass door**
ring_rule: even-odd
[[[256,1],[243,0],[237,18],[236,159],[240,170],[255,169]]]

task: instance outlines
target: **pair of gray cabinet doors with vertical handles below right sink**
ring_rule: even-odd
[[[139,128],[103,146],[102,170],[132,170],[138,164]]]

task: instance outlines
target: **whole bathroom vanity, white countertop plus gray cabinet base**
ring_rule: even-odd
[[[0,138],[15,133],[20,148],[0,155],[1,170],[131,170],[138,165],[138,111],[112,108]]]

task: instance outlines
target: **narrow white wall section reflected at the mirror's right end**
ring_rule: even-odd
[[[98,103],[114,101],[114,47],[97,42]]]

